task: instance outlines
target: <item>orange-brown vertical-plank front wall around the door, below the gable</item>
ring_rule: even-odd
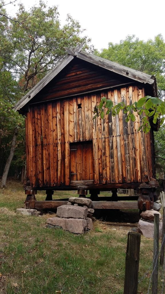
[[[90,153],[84,166],[90,174],[91,160],[95,184],[144,182],[145,174],[152,176],[150,133],[137,132],[141,123],[137,113],[134,123],[127,123],[122,111],[116,117],[110,113],[103,120],[92,119],[94,106],[103,96],[131,104],[144,96],[144,88],[122,87],[30,106],[26,154],[31,186],[70,185],[70,149],[73,143],[86,141],[92,142],[93,157]]]

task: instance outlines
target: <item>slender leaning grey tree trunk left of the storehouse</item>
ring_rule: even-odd
[[[17,134],[18,134],[18,128],[15,127],[14,128],[13,140],[12,140],[12,143],[11,143],[10,154],[9,154],[9,157],[8,157],[8,159],[6,161],[4,172],[3,172],[3,175],[2,175],[1,188],[5,188],[6,187],[6,180],[7,180],[9,168],[10,168],[11,161],[13,159],[14,151],[15,151],[15,147],[16,147],[16,137],[17,137]]]

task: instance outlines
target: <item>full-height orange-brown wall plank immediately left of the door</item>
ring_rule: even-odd
[[[70,183],[69,101],[64,101],[65,185]]]

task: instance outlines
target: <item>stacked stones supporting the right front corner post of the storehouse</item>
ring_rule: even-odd
[[[158,211],[146,210],[140,214],[141,219],[138,223],[138,231],[147,238],[154,236],[154,214],[159,214],[159,238],[162,235],[162,216]]]

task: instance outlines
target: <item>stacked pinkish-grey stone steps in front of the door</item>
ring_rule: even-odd
[[[63,228],[71,233],[83,234],[93,228],[92,216],[94,209],[90,208],[92,201],[88,198],[71,197],[67,205],[57,208],[57,217],[48,218],[48,225]]]

